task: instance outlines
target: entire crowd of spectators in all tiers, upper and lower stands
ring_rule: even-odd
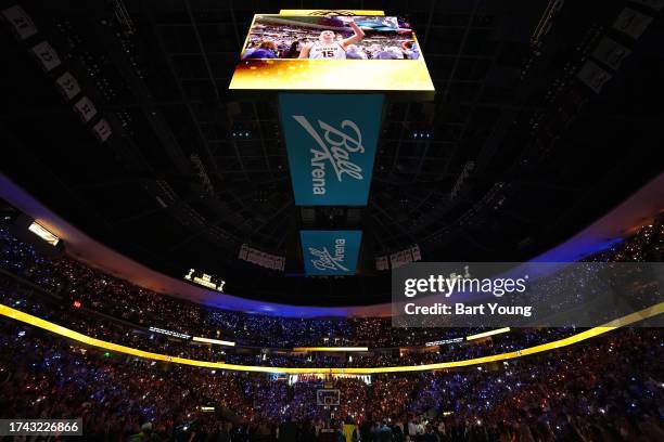
[[[588,260],[661,261],[663,242],[664,224],[656,222]],[[471,330],[392,329],[390,320],[378,317],[291,320],[197,306],[67,257],[42,257],[4,230],[0,263],[7,306],[100,339],[197,360],[417,365],[519,350],[578,332],[519,329],[474,343],[416,348]],[[255,344],[257,351],[192,346],[149,333],[149,325],[188,334],[219,330],[217,337]],[[261,341],[268,334],[269,341]],[[284,348],[372,342],[372,350],[350,356],[295,354],[279,351],[274,342]],[[505,362],[372,375],[370,382],[328,378],[325,387],[339,389],[341,402],[323,407],[316,402],[323,387],[317,377],[292,384],[288,377],[141,360],[4,318],[0,417],[81,417],[86,435],[108,441],[659,441],[664,440],[663,353],[661,328],[620,329]]]

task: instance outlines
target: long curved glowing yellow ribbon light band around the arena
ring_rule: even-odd
[[[184,365],[193,365],[199,367],[207,367],[207,368],[220,368],[235,372],[255,372],[255,373],[288,373],[288,374],[303,374],[303,373],[332,373],[332,374],[341,374],[341,373],[349,373],[349,374],[362,374],[362,375],[371,375],[378,373],[401,373],[401,372],[429,372],[433,369],[442,369],[442,368],[452,368],[452,367],[462,367],[469,365],[478,365],[486,364],[488,362],[496,361],[506,361],[514,358],[526,356],[529,354],[541,353],[548,350],[559,349],[561,347],[571,346],[573,343],[580,342],[586,339],[590,339],[592,337],[603,335],[605,333],[612,332],[618,327],[623,327],[625,325],[629,325],[649,317],[656,316],[659,314],[664,313],[664,302],[660,302],[657,304],[651,306],[647,309],[640,310],[638,312],[628,314],[623,317],[618,317],[617,320],[613,320],[604,325],[590,328],[586,332],[578,333],[576,335],[572,335],[567,338],[559,339],[551,342],[546,342],[539,346],[528,347],[525,349],[521,349],[518,351],[512,351],[508,353],[494,354],[489,356],[483,358],[473,358],[470,360],[463,361],[452,361],[452,362],[440,362],[436,364],[424,364],[424,365],[407,365],[407,366],[392,366],[392,367],[356,367],[356,368],[293,368],[293,367],[268,367],[268,366],[256,366],[256,365],[235,365],[235,364],[226,364],[222,362],[208,362],[208,361],[197,361],[190,360],[187,358],[178,358],[178,356],[169,356],[161,353],[152,353],[144,350],[135,349],[131,347],[125,347],[113,342],[107,342],[101,339],[92,338],[90,336],[84,335],[78,332],[71,330],[52,322],[42,320],[40,317],[34,316],[31,314],[22,312],[20,310],[12,309],[11,307],[0,304],[0,314],[3,316],[11,317],[16,321],[21,321],[26,324],[34,325],[39,328],[43,328],[44,330],[49,330],[56,335],[61,335],[67,337],[69,339],[87,343],[89,346],[99,347],[101,349],[115,351],[117,353],[131,354],[139,358],[145,358],[156,361],[164,362],[175,362],[176,364],[184,364]]]

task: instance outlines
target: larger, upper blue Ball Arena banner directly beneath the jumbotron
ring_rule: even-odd
[[[380,94],[279,95],[296,205],[367,205],[383,99]]]

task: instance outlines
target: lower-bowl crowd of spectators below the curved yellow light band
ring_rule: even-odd
[[[322,441],[324,427],[335,441],[346,428],[362,441],[661,441],[663,356],[661,329],[620,329],[510,362],[329,379],[341,401],[324,407],[320,381],[102,353],[2,321],[0,418],[80,417],[99,441]]]

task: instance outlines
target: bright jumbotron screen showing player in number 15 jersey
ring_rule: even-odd
[[[410,24],[382,15],[255,15],[229,88],[434,91]]]

